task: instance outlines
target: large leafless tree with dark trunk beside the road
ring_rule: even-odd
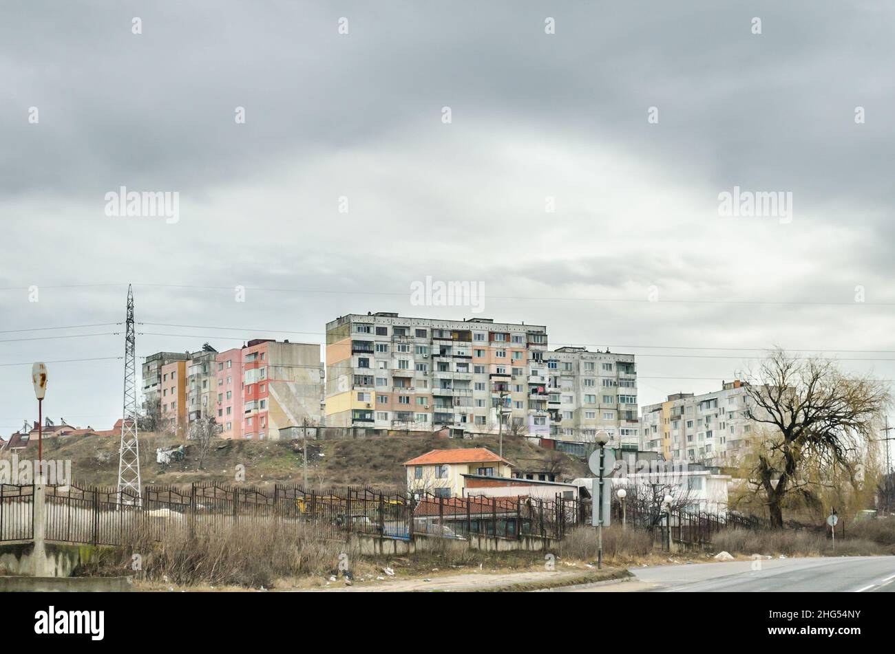
[[[847,376],[829,359],[797,358],[782,349],[763,360],[746,392],[752,405],[747,417],[763,427],[756,433],[751,483],[776,528],[783,526],[784,500],[808,482],[800,474],[803,463],[854,479],[858,455],[871,447],[877,419],[891,403],[880,381]]]

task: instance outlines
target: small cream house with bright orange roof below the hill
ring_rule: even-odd
[[[513,476],[513,465],[487,448],[433,449],[405,461],[407,489],[442,498],[464,495],[464,475]]]

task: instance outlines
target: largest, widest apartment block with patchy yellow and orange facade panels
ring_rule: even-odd
[[[550,433],[547,328],[344,315],[327,324],[329,427]],[[502,406],[502,408],[500,408]]]

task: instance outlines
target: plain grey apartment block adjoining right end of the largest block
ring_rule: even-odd
[[[639,443],[637,369],[634,355],[557,348],[545,356],[550,375],[550,436],[592,441],[609,434],[609,445]]]

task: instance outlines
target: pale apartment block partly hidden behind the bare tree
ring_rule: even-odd
[[[754,429],[746,417],[749,406],[746,383],[738,380],[702,395],[669,395],[664,402],[643,407],[641,448],[667,459],[735,464]]]

